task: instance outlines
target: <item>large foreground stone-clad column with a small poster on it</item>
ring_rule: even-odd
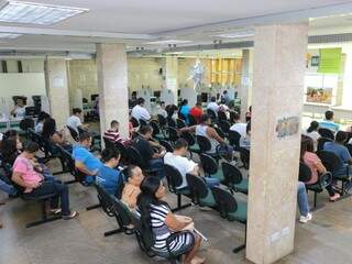
[[[246,257],[256,264],[294,250],[307,31],[255,32]]]

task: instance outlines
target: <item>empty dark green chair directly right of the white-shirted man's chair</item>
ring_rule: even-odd
[[[195,205],[212,208],[217,206],[213,195],[202,177],[187,174],[186,178],[190,197]]]

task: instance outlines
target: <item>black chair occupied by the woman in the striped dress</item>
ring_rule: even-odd
[[[166,240],[166,248],[167,248],[167,252],[166,253],[160,253],[153,250],[153,245],[154,245],[154,239],[151,238],[151,235],[148,235],[142,228],[142,222],[140,217],[135,213],[132,212],[131,213],[131,218],[132,218],[132,223],[134,226],[134,233],[136,237],[136,240],[139,242],[139,245],[141,248],[141,250],[148,256],[148,257],[154,257],[154,256],[160,256],[163,258],[168,260],[168,262],[170,264],[178,264],[180,263],[180,257],[186,254],[187,252],[189,252],[195,244],[195,240],[191,241],[191,243],[189,244],[189,246],[187,248],[182,248],[180,250],[176,251],[176,252],[170,252],[170,245],[174,241],[174,239],[177,235],[180,235],[183,233],[189,233],[189,231],[179,231],[179,232],[175,232],[173,234],[170,234],[167,240]],[[194,238],[194,237],[193,237]]]

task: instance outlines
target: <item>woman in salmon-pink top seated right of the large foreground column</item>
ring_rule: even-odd
[[[302,136],[300,143],[300,161],[304,162],[311,172],[311,178],[306,182],[306,185],[316,184],[319,179],[318,174],[327,173],[326,167],[322,165],[318,155],[314,152],[314,142],[309,136]],[[340,198],[339,194],[336,194],[332,186],[326,187],[329,193],[330,201],[336,201]]]

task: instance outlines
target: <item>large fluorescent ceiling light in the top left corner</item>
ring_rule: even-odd
[[[33,2],[8,1],[0,10],[0,21],[51,25],[87,11],[89,10]]]

